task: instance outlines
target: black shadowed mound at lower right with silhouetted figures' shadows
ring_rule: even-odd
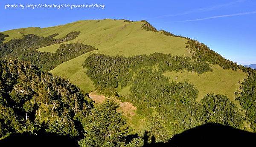
[[[255,139],[256,133],[209,123],[177,134],[167,143],[147,144],[145,137],[144,147],[254,147]]]

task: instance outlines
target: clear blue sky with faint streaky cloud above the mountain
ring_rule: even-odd
[[[7,8],[6,4],[104,4],[105,8]],[[196,39],[239,64],[256,63],[255,0],[0,0],[0,31],[91,19],[147,20]]]

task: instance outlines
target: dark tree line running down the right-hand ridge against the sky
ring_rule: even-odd
[[[154,29],[148,28],[148,31],[154,31]],[[188,40],[186,42],[186,48],[192,51],[192,59],[196,59],[198,61],[206,61],[211,64],[217,64],[224,69],[232,69],[234,71],[241,69],[248,74],[248,78],[244,79],[244,82],[242,83],[242,92],[236,92],[236,99],[239,100],[241,107],[246,110],[247,119],[249,119],[251,123],[250,127],[256,131],[256,70],[238,65],[231,60],[225,59],[217,52],[212,51],[207,45],[198,42],[197,40],[193,40],[189,37],[175,35],[164,30],[160,31],[167,36],[181,37]]]

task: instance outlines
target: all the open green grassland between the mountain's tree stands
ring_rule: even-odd
[[[160,52],[164,54],[177,54],[191,57],[191,53],[185,48],[186,39],[170,37],[161,32],[145,31],[140,28],[143,22],[124,22],[123,20],[86,20],[59,25],[49,28],[20,28],[3,32],[8,34],[6,41],[12,38],[20,38],[25,34],[36,34],[47,37],[58,33],[55,38],[64,37],[71,31],[80,31],[81,34],[72,41],[65,43],[84,43],[93,45],[98,50],[83,54],[58,65],[50,71],[54,75],[59,75],[78,85],[85,92],[93,91],[94,85],[90,78],[85,74],[87,69],[82,68],[85,59],[92,53],[108,54],[111,56],[122,55],[125,57],[139,54],[152,54]],[[59,44],[39,48],[39,51],[55,52]],[[195,85],[199,90],[197,101],[200,101],[207,93],[227,95],[234,101],[234,92],[239,90],[239,81],[247,76],[242,71],[223,70],[214,65],[213,72],[197,74],[193,72],[167,72],[165,76],[170,80],[188,81]],[[175,77],[177,76],[177,79]],[[121,94],[129,93],[129,87],[124,88]]]

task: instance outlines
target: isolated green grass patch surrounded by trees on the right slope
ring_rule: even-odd
[[[246,73],[241,70],[224,70],[219,65],[212,66],[212,72],[198,74],[196,72],[179,71],[166,72],[164,76],[170,81],[189,82],[198,89],[199,102],[207,93],[215,93],[228,96],[232,102],[239,104],[235,100],[235,91],[240,90],[240,84],[247,78]]]

